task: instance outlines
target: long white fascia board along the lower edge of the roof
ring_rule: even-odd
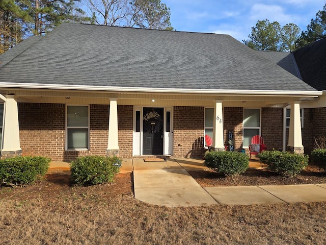
[[[240,90],[240,89],[187,89],[187,88],[141,88],[141,87],[110,87],[64,84],[38,84],[38,83],[0,83],[3,88],[39,88],[39,89],[65,89],[65,90],[92,90],[116,92],[152,92],[152,93],[202,93],[202,94],[234,94],[234,95],[299,95],[318,96],[322,91],[306,90]]]

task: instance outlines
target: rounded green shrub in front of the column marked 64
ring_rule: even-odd
[[[217,173],[238,175],[249,167],[249,158],[246,154],[239,152],[208,152],[205,155],[205,166]]]

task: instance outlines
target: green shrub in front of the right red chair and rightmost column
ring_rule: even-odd
[[[291,154],[289,152],[264,151],[258,154],[260,161],[276,173],[294,177],[308,166],[308,155]]]

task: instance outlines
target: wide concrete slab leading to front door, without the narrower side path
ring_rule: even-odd
[[[135,198],[150,204],[169,207],[216,204],[174,159],[166,162],[133,159],[133,185]]]

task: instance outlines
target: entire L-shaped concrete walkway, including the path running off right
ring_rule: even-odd
[[[326,184],[202,188],[186,171],[199,168],[205,169],[201,160],[133,159],[135,198],[168,207],[326,201]]]

